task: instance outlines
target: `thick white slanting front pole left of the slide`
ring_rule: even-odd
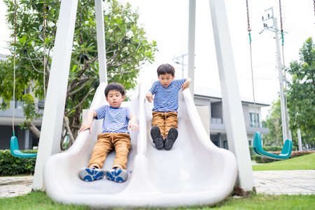
[[[59,140],[62,133],[77,6],[78,0],[62,0],[60,5],[41,137],[39,138],[36,158],[33,180],[34,190],[44,190],[44,164],[50,155],[60,151]]]

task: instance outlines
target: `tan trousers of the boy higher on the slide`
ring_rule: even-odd
[[[171,127],[175,127],[177,129],[177,124],[179,123],[179,119],[177,118],[177,112],[152,112],[152,127],[158,126],[160,128],[160,132],[162,137],[165,139]]]

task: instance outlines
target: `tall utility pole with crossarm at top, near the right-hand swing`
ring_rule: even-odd
[[[277,61],[279,83],[280,83],[281,123],[282,123],[282,136],[283,136],[283,143],[284,143],[284,141],[286,141],[287,138],[291,139],[291,137],[290,137],[290,131],[288,130],[288,111],[286,108],[286,96],[283,93],[282,69],[283,69],[284,64],[281,64],[281,53],[280,53],[280,45],[279,45],[279,34],[281,34],[281,31],[278,29],[278,23],[276,22],[276,18],[274,18],[273,8],[268,8],[267,10],[265,10],[265,12],[267,13],[267,17],[262,16],[264,29],[260,31],[259,34],[262,34],[264,30],[272,31],[274,32],[274,38],[276,39],[276,61]],[[270,19],[272,20],[271,27],[269,27],[266,23],[266,21]],[[284,78],[284,82],[286,83],[286,78]]]

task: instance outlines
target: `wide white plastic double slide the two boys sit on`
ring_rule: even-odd
[[[99,85],[90,109],[105,104],[105,87]],[[139,87],[137,100],[123,102],[139,118],[139,131],[131,132],[129,179],[125,183],[79,179],[78,170],[87,166],[102,132],[102,120],[94,120],[92,134],[81,132],[68,151],[52,155],[45,163],[45,191],[52,200],[95,208],[181,207],[215,204],[230,194],[237,178],[235,156],[211,143],[189,90],[180,93],[179,137],[171,151],[158,151],[152,143],[152,104],[146,102],[145,92]],[[114,158],[112,152],[104,169],[111,168]]]

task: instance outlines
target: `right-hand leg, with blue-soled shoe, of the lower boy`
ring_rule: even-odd
[[[129,134],[114,134],[113,145],[115,146],[116,158],[113,169],[106,170],[106,179],[116,182],[126,181],[128,172],[126,170],[128,153],[131,147]]]

